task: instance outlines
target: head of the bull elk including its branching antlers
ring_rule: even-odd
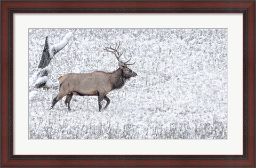
[[[131,58],[129,60],[127,60],[126,62],[123,62],[120,60],[120,57],[123,55],[123,52],[122,53],[118,52],[119,46],[120,46],[120,42],[118,45],[116,44],[115,48],[109,46],[109,47],[105,47],[105,49],[103,49],[103,50],[106,50],[107,52],[111,52],[115,55],[115,57],[118,61],[119,68],[123,71],[124,78],[129,79],[130,77],[137,76],[137,73],[135,73],[133,70],[131,70],[130,68],[127,67],[127,65],[134,65],[134,63],[135,63],[135,62],[128,63],[131,60]]]

